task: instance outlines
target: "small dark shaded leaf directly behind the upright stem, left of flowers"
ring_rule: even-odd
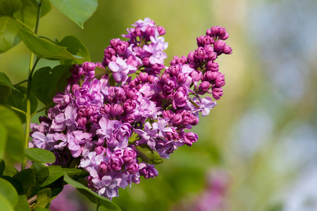
[[[18,90],[11,91],[11,95],[8,96],[6,104],[26,112],[27,88],[22,87],[22,86],[18,86],[16,88]],[[34,94],[31,94],[31,113],[35,112],[35,110],[37,110],[37,98],[35,97]],[[24,123],[25,122],[25,114],[20,113],[18,111],[14,111],[14,112],[20,117],[20,119]]]

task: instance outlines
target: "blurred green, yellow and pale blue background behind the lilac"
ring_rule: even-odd
[[[317,210],[316,11],[316,0],[99,0],[82,30],[53,7],[39,34],[75,35],[94,62],[110,39],[147,17],[166,29],[166,65],[194,51],[196,37],[213,25],[230,34],[233,53],[218,58],[224,95],[194,127],[199,141],[158,165],[159,177],[121,189],[113,201],[122,210],[198,211],[212,192],[203,210]],[[29,59],[18,44],[0,55],[1,71],[20,82]]]

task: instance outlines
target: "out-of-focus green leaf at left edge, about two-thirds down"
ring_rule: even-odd
[[[6,155],[23,162],[25,136],[20,118],[10,108],[0,105],[0,123],[7,132]]]

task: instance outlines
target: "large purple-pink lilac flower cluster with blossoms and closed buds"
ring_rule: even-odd
[[[198,49],[174,56],[165,67],[164,28],[149,18],[132,26],[123,35],[129,41],[110,41],[102,63],[70,68],[65,91],[54,96],[56,106],[31,126],[30,147],[54,152],[53,165],[80,160],[89,188],[107,198],[139,183],[140,176],[159,174],[147,156],[169,158],[179,146],[197,141],[197,134],[185,130],[216,106],[211,96],[223,95],[224,75],[215,60],[232,53],[223,41],[225,29],[211,27],[197,38]],[[104,74],[95,76],[97,69]]]

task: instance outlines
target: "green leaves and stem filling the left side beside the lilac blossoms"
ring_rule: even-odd
[[[87,177],[85,170],[77,169],[78,159],[67,164],[61,160],[62,166],[66,167],[47,166],[44,163],[56,161],[54,153],[40,148],[25,148],[32,115],[54,105],[53,97],[64,91],[71,65],[90,61],[85,44],[77,37],[66,36],[61,41],[53,41],[49,37],[37,36],[39,18],[51,11],[51,4],[80,27],[98,6],[97,0],[0,0],[0,53],[8,51],[21,40],[32,52],[29,74],[23,81],[27,86],[18,85],[23,82],[11,84],[9,77],[0,72],[0,210],[49,210],[51,200],[61,192],[65,181],[97,203],[97,207],[120,210],[107,198],[76,181]],[[37,60],[34,63],[35,55]],[[41,58],[60,60],[62,65],[37,70],[35,67]],[[37,110],[38,101],[45,105],[41,110]],[[24,122],[25,130],[22,127]],[[158,162],[159,158],[152,158],[147,150],[140,151],[145,157],[149,156],[147,159]],[[3,158],[20,162],[21,170],[6,165]],[[34,163],[25,169],[27,159]],[[32,198],[31,202],[27,198]]]

